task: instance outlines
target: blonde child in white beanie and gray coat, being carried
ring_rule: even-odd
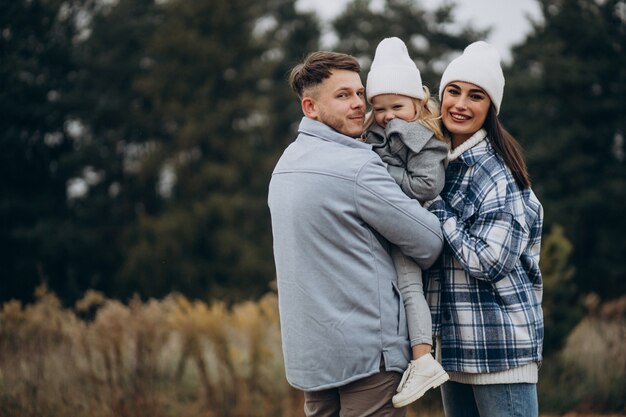
[[[387,163],[389,173],[409,197],[421,204],[437,197],[444,186],[448,145],[441,131],[439,107],[422,86],[420,72],[402,40],[386,38],[378,44],[367,76],[366,96],[372,111],[365,121],[365,142]],[[432,321],[422,271],[397,247],[392,248],[391,256],[412,350],[412,361],[393,397],[394,407],[404,407],[443,384],[448,374],[431,354]]]

